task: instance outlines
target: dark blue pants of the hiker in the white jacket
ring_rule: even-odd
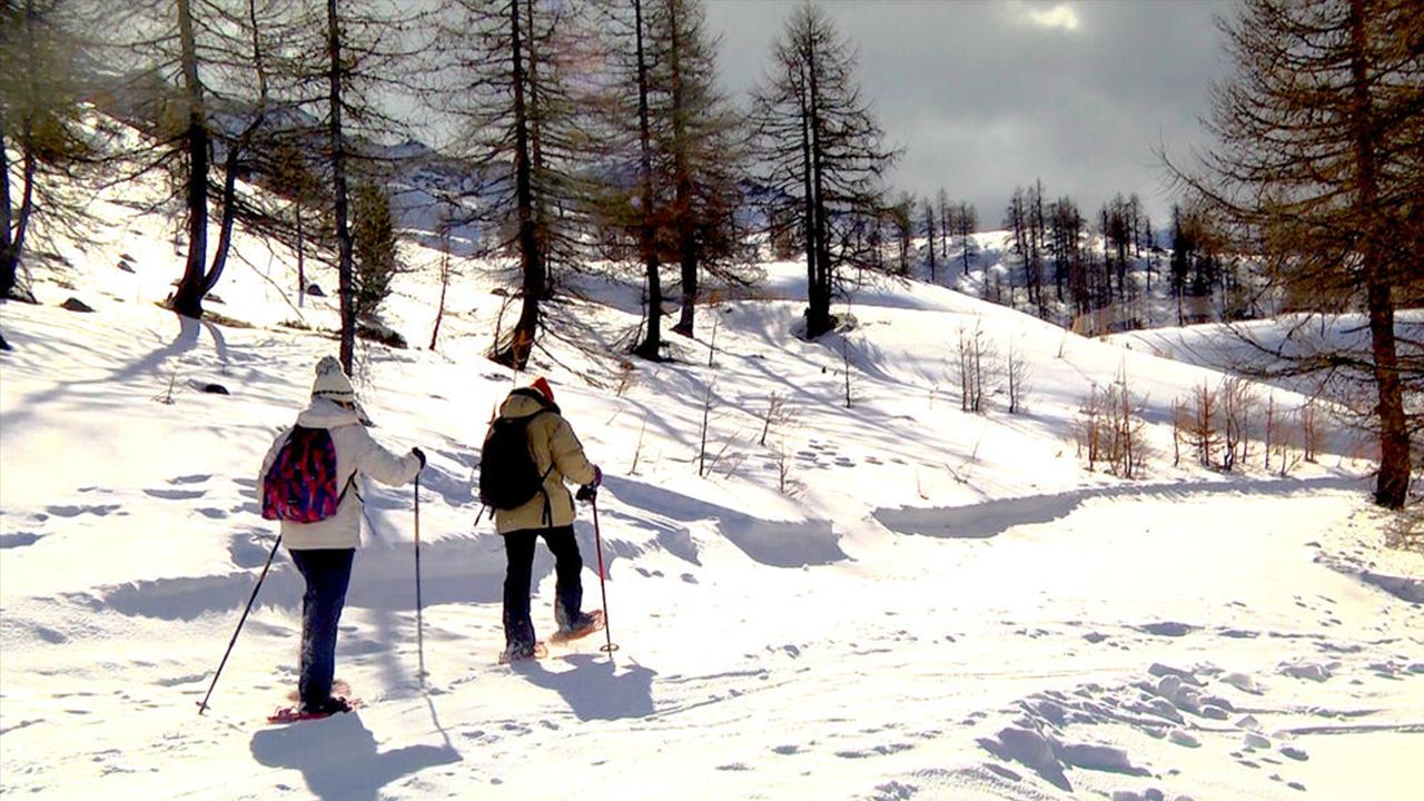
[[[332,697],[336,676],[336,630],[346,606],[356,549],[293,550],[292,562],[306,579],[302,594],[302,676],[298,693],[302,706],[318,706]]]

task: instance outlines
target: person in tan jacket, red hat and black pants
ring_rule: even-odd
[[[540,537],[554,554],[554,620],[560,634],[585,631],[598,623],[598,613],[582,611],[584,560],[574,537],[574,497],[564,480],[597,489],[602,470],[584,455],[582,443],[560,413],[554,391],[543,378],[533,386],[510,392],[500,405],[498,416],[506,420],[530,418],[524,426],[528,453],[544,479],[540,492],[527,503],[494,510],[494,527],[504,537],[508,560],[504,573],[506,647],[500,660],[518,661],[537,656],[534,621],[530,619],[530,582],[534,544]]]

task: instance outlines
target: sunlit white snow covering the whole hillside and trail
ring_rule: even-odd
[[[336,349],[279,324],[335,314],[293,305],[289,259],[244,241],[211,308],[253,328],[179,322],[154,304],[179,272],[171,222],[110,214],[87,252],[61,254],[70,269],[37,275],[41,305],[0,306],[16,348],[0,355],[6,795],[1411,798],[1424,784],[1424,562],[1381,546],[1367,465],[1172,467],[1171,402],[1216,381],[1209,368],[923,284],[863,288],[842,309],[854,325],[820,343],[790,335],[799,301],[709,306],[696,341],[675,338],[681,361],[627,379],[608,343],[637,325],[635,289],[587,285],[605,302],[555,306],[587,335],[545,338],[537,372],[608,476],[621,648],[590,639],[510,668],[496,664],[504,556],[476,526],[471,477],[490,409],[533,375],[480,358],[501,298],[463,264],[437,351],[360,359],[376,436],[431,458],[423,653],[412,489],[372,486],[337,651],[366,706],[263,724],[295,687],[300,627],[279,554],[198,717],[275,533],[256,513],[261,458]],[[766,269],[768,296],[803,292],[795,264]],[[58,308],[71,295],[97,312]],[[402,275],[389,321],[427,343],[437,295],[429,269]],[[1025,413],[1001,395],[960,410],[950,362],[975,326],[1031,363]],[[1069,433],[1088,386],[1122,371],[1156,449],[1132,482],[1088,472]],[[786,415],[763,445],[773,393]],[[578,534],[597,606],[587,507]],[[535,580],[547,633],[547,553]]]

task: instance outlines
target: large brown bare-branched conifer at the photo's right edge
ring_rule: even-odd
[[[1374,500],[1408,495],[1405,385],[1394,286],[1417,281],[1424,108],[1424,6],[1414,0],[1245,0],[1223,24],[1235,74],[1219,84],[1205,174],[1182,175],[1232,247],[1262,254],[1303,311],[1364,312],[1368,348],[1310,348],[1290,368],[1324,368],[1373,395],[1361,405],[1380,445]]]

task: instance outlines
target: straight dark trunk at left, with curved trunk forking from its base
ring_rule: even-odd
[[[172,309],[184,316],[202,316],[208,267],[208,120],[198,83],[198,48],[192,33],[189,0],[178,0],[178,40],[182,58],[184,98],[188,104],[188,261],[174,294]]]

